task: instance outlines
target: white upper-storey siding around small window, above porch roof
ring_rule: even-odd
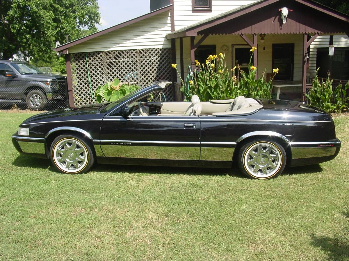
[[[185,26],[198,23],[202,20],[226,11],[248,5],[256,0],[212,0],[212,12],[193,13],[192,0],[174,0],[174,29],[178,30]]]

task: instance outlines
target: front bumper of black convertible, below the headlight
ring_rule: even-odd
[[[37,158],[47,158],[45,138],[18,136],[18,133],[16,132],[12,135],[12,143],[16,150],[24,155]]]

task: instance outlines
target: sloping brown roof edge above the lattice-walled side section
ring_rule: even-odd
[[[92,34],[89,34],[87,36],[84,36],[82,38],[76,39],[74,41],[67,42],[66,44],[60,45],[60,46],[58,46],[56,48],[53,48],[53,50],[55,50],[56,52],[60,52],[60,51],[65,50],[65,49],[67,49],[69,47],[72,47],[74,45],[81,44],[82,42],[85,42],[87,40],[90,40],[90,39],[93,39],[95,37],[101,36],[103,34],[115,31],[115,30],[120,29],[122,27],[125,27],[127,25],[134,24],[136,22],[140,22],[140,21],[142,21],[144,19],[147,19],[149,17],[161,14],[161,13],[163,13],[165,11],[169,11],[169,10],[171,10],[172,6],[173,6],[173,4],[165,6],[165,7],[162,7],[160,9],[154,10],[154,11],[152,11],[150,13],[145,14],[145,15],[141,15],[141,16],[136,17],[134,19],[128,20],[128,21],[126,21],[124,23],[111,26],[111,27],[109,27],[107,29],[104,29],[104,30],[101,30],[101,31],[98,31],[98,32],[95,32],[95,33],[92,33]]]

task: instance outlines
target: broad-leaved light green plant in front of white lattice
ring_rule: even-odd
[[[139,89],[139,86],[129,83],[122,83],[119,79],[114,79],[113,81],[107,82],[103,86],[95,91],[95,96],[97,102],[103,102],[103,99],[107,102],[113,102],[124,97],[126,94],[134,92]]]

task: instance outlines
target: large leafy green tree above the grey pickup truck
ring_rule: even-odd
[[[95,31],[99,19],[97,0],[0,0],[2,59],[19,52],[44,58],[52,53],[53,39],[80,38]]]

